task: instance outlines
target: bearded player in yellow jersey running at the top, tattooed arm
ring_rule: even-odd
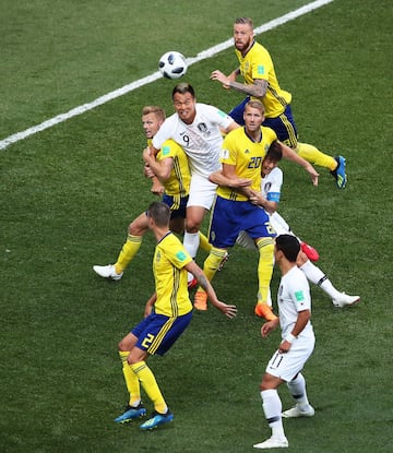
[[[221,82],[225,88],[233,88],[247,95],[247,98],[235,107],[229,116],[237,123],[243,124],[245,105],[250,98],[260,99],[265,107],[263,126],[272,128],[278,140],[295,150],[300,157],[313,165],[327,168],[334,176],[337,187],[344,189],[347,182],[345,158],[329,156],[313,145],[298,142],[290,108],[291,94],[281,88],[269,51],[254,39],[251,19],[236,19],[234,41],[239,67],[229,75],[217,70],[211,74],[211,79]],[[242,75],[245,83],[236,81],[238,75]]]

